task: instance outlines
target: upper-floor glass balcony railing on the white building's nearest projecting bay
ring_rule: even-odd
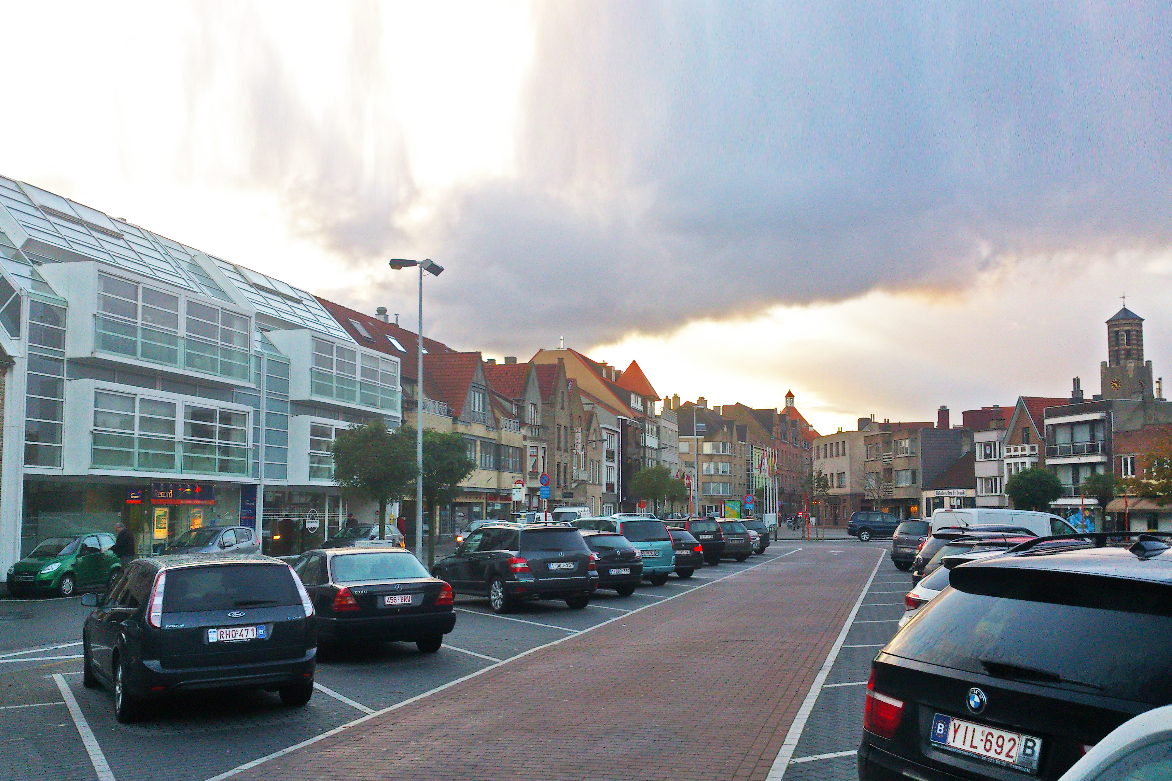
[[[250,379],[247,350],[107,315],[94,315],[94,350],[175,369]]]

